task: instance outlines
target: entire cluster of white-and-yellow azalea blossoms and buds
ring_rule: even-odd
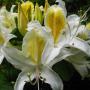
[[[15,5],[10,11],[0,9],[0,63],[5,57],[22,71],[14,90],[23,90],[26,81],[37,83],[39,90],[39,80],[49,83],[52,90],[63,90],[61,78],[52,70],[62,60],[70,62],[82,78],[89,74],[90,23],[82,24],[85,14],[67,16],[64,1],[56,2],[50,5],[46,0],[44,6],[30,1],[18,3],[18,12],[13,11]],[[15,28],[23,37],[21,48],[10,42],[17,38],[12,34]]]

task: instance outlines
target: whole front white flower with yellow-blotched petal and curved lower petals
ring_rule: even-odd
[[[13,47],[4,47],[2,50],[6,59],[16,68],[22,70],[14,90],[23,90],[25,81],[32,81],[34,78],[36,83],[39,83],[40,77],[45,78],[45,82],[49,83],[53,90],[63,90],[62,80],[49,67],[50,63],[45,63],[54,46],[50,32],[43,30],[36,21],[28,24],[28,31],[23,39],[22,51]]]

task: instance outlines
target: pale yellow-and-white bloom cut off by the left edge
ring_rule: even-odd
[[[4,55],[1,52],[2,47],[5,46],[11,38],[15,37],[10,34],[16,27],[14,20],[16,14],[12,12],[13,8],[14,6],[11,8],[11,12],[8,12],[5,6],[0,9],[0,64],[4,58]]]

